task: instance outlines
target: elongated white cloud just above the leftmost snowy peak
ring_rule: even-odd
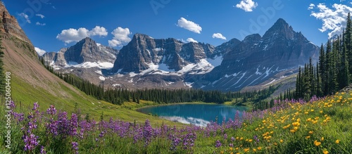
[[[86,37],[106,37],[107,35],[108,32],[104,27],[96,26],[92,30],[87,30],[84,27],[80,27],[78,30],[73,28],[62,30],[61,33],[56,36],[56,39],[69,44],[71,42],[80,41]]]

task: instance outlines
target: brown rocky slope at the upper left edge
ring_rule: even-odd
[[[8,13],[4,4],[0,2],[0,31],[10,34],[13,37],[30,43],[30,39],[27,38],[25,32],[23,32],[16,18]]]

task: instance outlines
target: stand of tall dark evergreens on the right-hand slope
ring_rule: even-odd
[[[321,45],[318,62],[312,59],[303,68],[298,68],[296,98],[334,94],[351,83],[352,77],[352,22],[348,13],[346,29],[334,39]]]

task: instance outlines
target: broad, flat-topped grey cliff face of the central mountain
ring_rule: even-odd
[[[177,39],[153,39],[145,34],[134,34],[132,41],[120,50],[111,71],[139,73],[151,65],[179,71],[186,65],[199,63],[213,51],[214,46],[210,44],[185,44]]]

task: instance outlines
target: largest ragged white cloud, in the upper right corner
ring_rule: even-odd
[[[332,8],[328,8],[325,4],[318,4],[317,8],[319,11],[312,11],[310,15],[322,20],[320,32],[329,31],[329,38],[335,34],[341,34],[346,27],[348,12],[352,12],[352,8],[343,4],[334,4]]]

